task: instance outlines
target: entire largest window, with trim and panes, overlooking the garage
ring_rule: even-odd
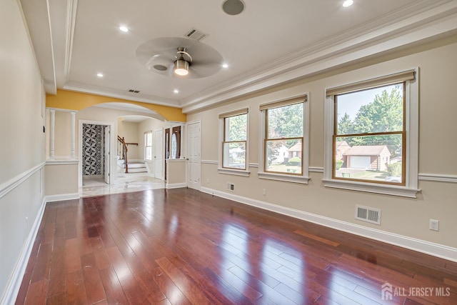
[[[417,91],[414,70],[326,91],[326,186],[416,196]]]

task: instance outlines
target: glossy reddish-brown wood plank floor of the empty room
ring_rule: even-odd
[[[393,295],[381,298],[381,286]],[[433,289],[433,290],[431,290]],[[16,304],[457,304],[457,264],[191,189],[46,206]]]

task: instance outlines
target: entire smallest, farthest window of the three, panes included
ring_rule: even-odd
[[[248,174],[248,109],[219,115],[221,121],[221,162],[225,174]]]

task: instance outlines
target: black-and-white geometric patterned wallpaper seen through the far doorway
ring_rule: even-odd
[[[83,175],[104,174],[105,126],[83,124]]]

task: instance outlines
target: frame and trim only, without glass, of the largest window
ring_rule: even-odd
[[[402,184],[389,184],[381,181],[371,180],[349,180],[339,179],[334,176],[335,148],[334,137],[336,137],[336,119],[335,119],[335,96],[363,89],[371,89],[378,86],[389,84],[398,84],[401,77],[405,74],[413,73],[413,79],[404,81],[403,92],[403,172]],[[396,77],[398,76],[398,77]],[[403,77],[404,78],[404,77]],[[366,191],[377,194],[388,194],[393,196],[406,196],[416,198],[418,191],[418,94],[419,94],[419,74],[418,68],[400,71],[386,76],[367,79],[352,84],[326,89],[325,102],[325,119],[324,119],[324,171],[323,185],[336,189],[349,189],[353,191]],[[338,93],[339,92],[339,93]],[[336,139],[336,138],[335,138]]]

